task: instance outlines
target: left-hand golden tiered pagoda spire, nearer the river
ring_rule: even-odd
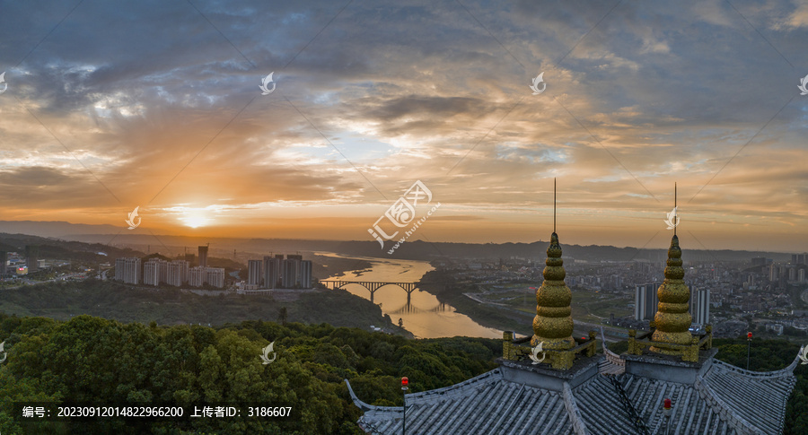
[[[566,351],[575,346],[572,337],[572,291],[564,283],[566,272],[561,259],[561,245],[556,234],[556,182],[553,180],[553,234],[547,248],[544,283],[536,291],[536,317],[533,318],[531,346],[543,343],[543,349]]]

